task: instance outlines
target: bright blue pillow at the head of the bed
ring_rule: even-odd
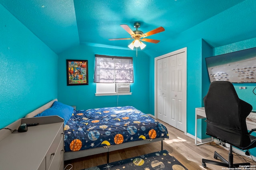
[[[35,115],[34,117],[57,115],[64,119],[64,125],[66,125],[67,121],[72,116],[73,110],[74,108],[72,106],[68,106],[66,104],[62,104],[60,102],[55,101],[52,104],[52,107],[46,109],[42,113]]]

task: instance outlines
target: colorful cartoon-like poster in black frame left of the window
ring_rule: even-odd
[[[66,60],[67,85],[88,85],[88,60]]]

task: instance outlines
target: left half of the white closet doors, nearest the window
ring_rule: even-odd
[[[157,61],[157,118],[166,122],[169,115],[169,58]]]

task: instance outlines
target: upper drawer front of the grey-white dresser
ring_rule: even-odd
[[[54,141],[52,142],[52,145],[50,146],[48,152],[46,153],[46,170],[49,169],[50,164],[52,163],[52,160],[54,159],[56,153],[58,152],[58,146],[62,143],[63,147],[63,129],[60,127]]]

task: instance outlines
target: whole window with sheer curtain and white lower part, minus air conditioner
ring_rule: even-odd
[[[96,96],[117,95],[116,83],[132,83],[133,81],[132,57],[95,55]]]

